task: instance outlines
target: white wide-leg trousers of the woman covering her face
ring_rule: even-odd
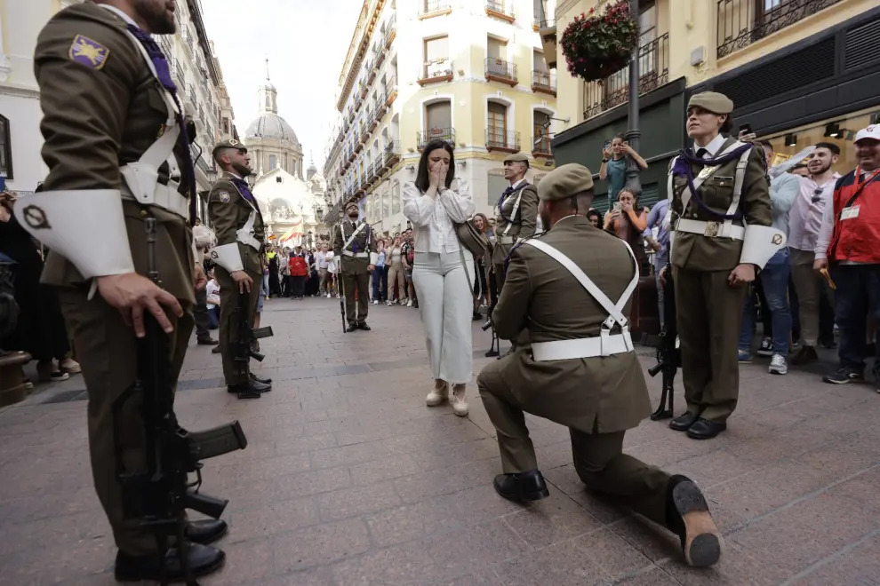
[[[474,261],[465,262],[460,252],[417,252],[412,269],[431,372],[449,384],[468,384],[474,371]]]

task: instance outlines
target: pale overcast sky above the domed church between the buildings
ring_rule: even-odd
[[[342,61],[363,0],[202,0],[204,27],[223,68],[241,135],[258,112],[269,75],[278,114],[319,170],[335,112]]]

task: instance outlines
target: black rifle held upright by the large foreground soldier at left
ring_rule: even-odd
[[[156,270],[156,218],[147,218],[147,270],[158,284]],[[199,493],[202,463],[206,458],[228,454],[247,447],[241,424],[233,421],[204,432],[188,432],[174,414],[174,388],[169,372],[168,336],[148,312],[144,314],[147,335],[137,340],[137,376],[132,386],[113,402],[113,443],[116,477],[123,488],[123,507],[127,518],[138,518],[141,527],[156,537],[158,554],[164,558],[169,538],[176,539],[177,555],[188,586],[198,586],[188,560],[186,510],[220,519],[227,499]],[[146,470],[128,470],[120,448],[121,411],[132,397],[140,396],[147,455]],[[190,483],[188,474],[195,473]],[[164,565],[160,583],[168,583]]]

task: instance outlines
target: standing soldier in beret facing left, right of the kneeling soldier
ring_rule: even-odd
[[[670,261],[687,403],[669,427],[699,440],[723,432],[736,408],[748,283],[785,244],[785,234],[770,227],[764,153],[721,134],[732,128],[732,110],[723,94],[695,94],[687,119],[693,148],[673,160],[669,173]]]

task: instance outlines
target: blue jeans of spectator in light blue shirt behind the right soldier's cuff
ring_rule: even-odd
[[[788,337],[791,336],[791,311],[788,308],[788,249],[781,249],[767,261],[758,279],[767,297],[773,330],[773,353],[788,356]],[[751,353],[752,332],[755,329],[755,297],[748,295],[742,309],[742,331],[740,350]]]

